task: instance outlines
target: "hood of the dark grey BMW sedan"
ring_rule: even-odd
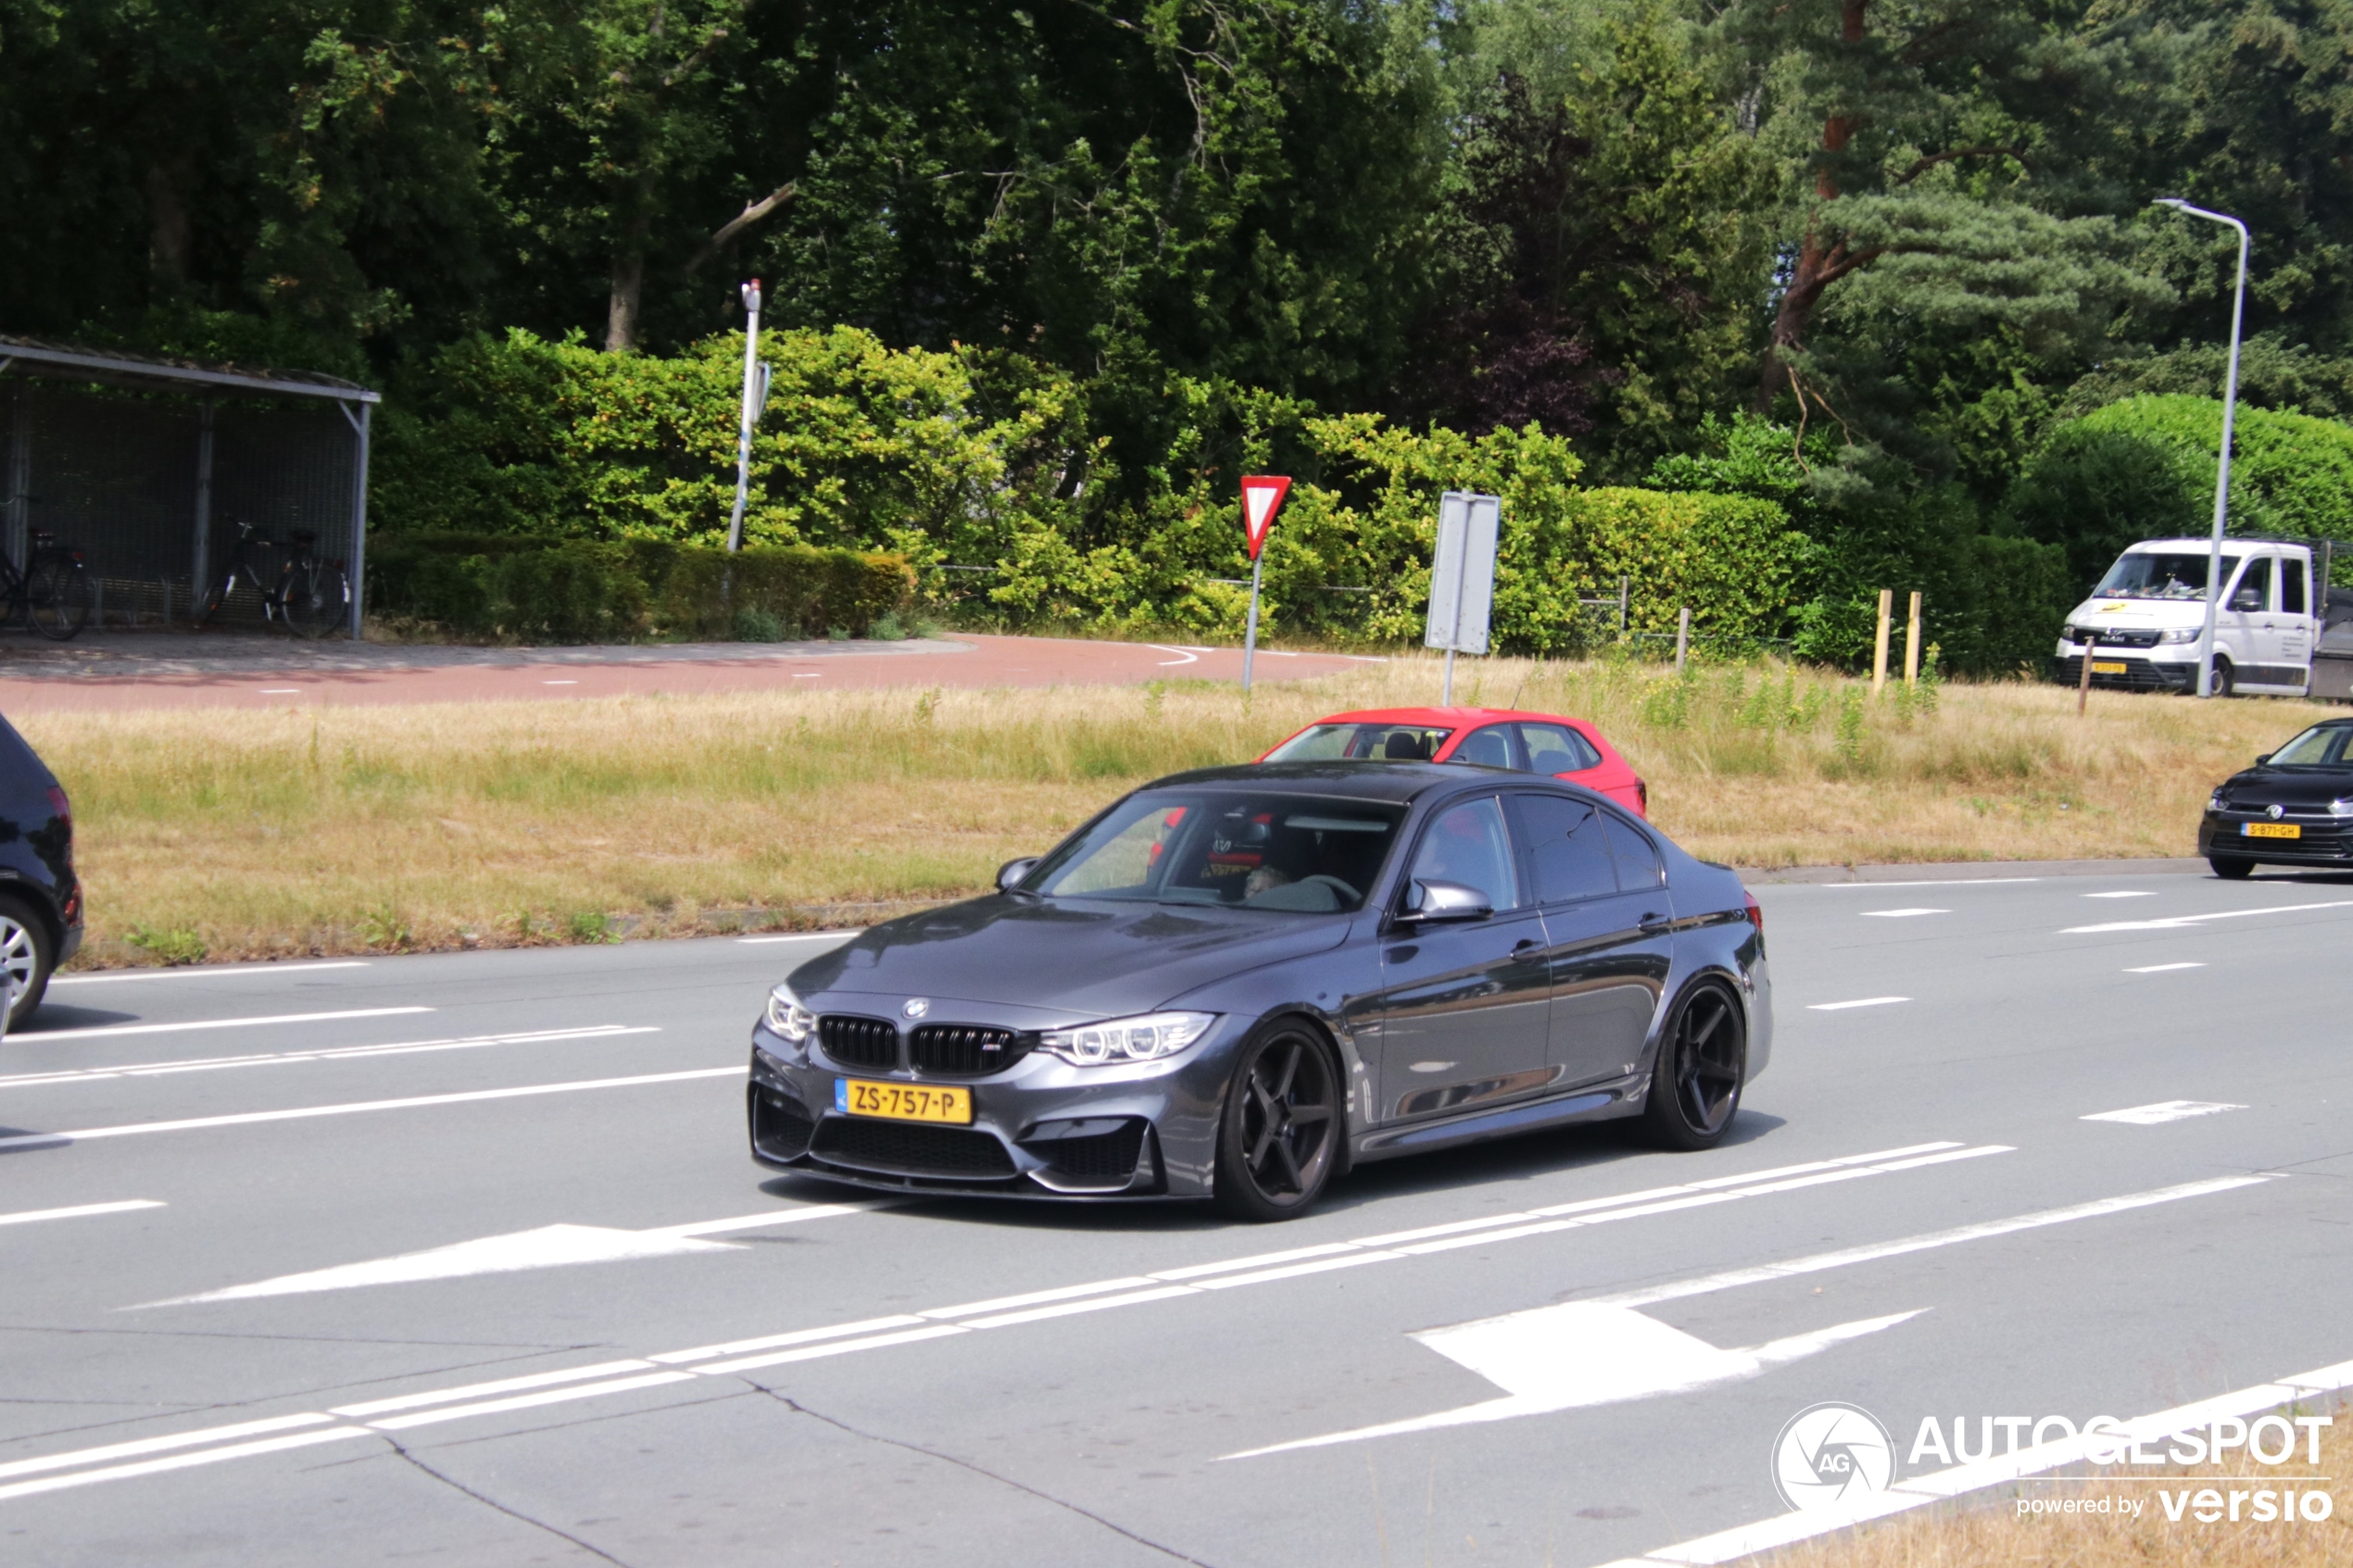
[[[1035,1009],[1033,1027],[1085,1023],[1144,1013],[1212,980],[1325,952],[1353,922],[995,893],[871,926],[795,969],[791,985],[802,999],[960,999]]]

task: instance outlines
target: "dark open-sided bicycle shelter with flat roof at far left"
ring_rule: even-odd
[[[19,567],[35,531],[82,550],[104,628],[193,618],[240,522],[280,541],[308,529],[346,564],[358,637],[376,402],[313,371],[0,336],[0,548]],[[261,602],[240,590],[221,616],[261,621]]]

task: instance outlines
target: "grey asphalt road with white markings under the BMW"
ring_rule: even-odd
[[[1781,1514],[1814,1401],[1904,1446],[2353,1356],[2353,879],[1760,898],[1725,1147],[1282,1227],[758,1171],[826,938],[68,976],[0,1044],[0,1561],[1602,1563]],[[2097,1119],[2167,1103],[2226,1110]]]

